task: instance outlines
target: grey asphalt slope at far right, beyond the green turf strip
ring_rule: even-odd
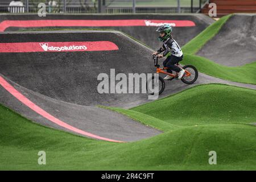
[[[256,14],[234,14],[197,55],[229,67],[256,61]]]

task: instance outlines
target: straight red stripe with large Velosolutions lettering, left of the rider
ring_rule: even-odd
[[[0,43],[0,52],[73,52],[113,50],[118,50],[118,46],[109,41]]]

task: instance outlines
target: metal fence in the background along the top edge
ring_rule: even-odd
[[[32,0],[22,0],[23,6],[9,6],[1,5],[0,3],[0,13],[37,13],[39,7],[38,4],[31,3]],[[41,2],[48,2],[49,0],[43,0]],[[199,12],[202,4],[205,0],[188,0],[191,1],[191,6],[182,7],[129,7],[129,6],[108,6],[106,1],[97,0],[94,3],[88,1],[88,3],[75,5],[70,3],[72,0],[58,0],[56,6],[46,5],[47,13],[108,13],[108,14],[123,14],[123,13],[196,13]],[[128,0],[127,0],[128,1]],[[129,0],[133,1],[133,0]],[[40,1],[39,1],[40,2]],[[197,5],[197,6],[195,6]]]

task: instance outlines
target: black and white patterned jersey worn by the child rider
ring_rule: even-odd
[[[177,44],[177,42],[172,38],[168,38],[164,42],[163,48],[165,49],[164,56],[166,56],[168,52],[170,52],[172,55],[177,57],[180,57],[183,55],[183,52],[181,51],[179,44]]]

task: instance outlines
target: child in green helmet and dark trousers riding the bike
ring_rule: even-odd
[[[152,55],[158,55],[158,57],[163,57],[170,52],[171,55],[163,61],[163,66],[168,68],[168,73],[172,73],[172,71],[177,72],[178,78],[181,79],[185,71],[184,69],[177,67],[175,64],[183,60],[183,52],[181,51],[179,44],[177,44],[177,42],[172,38],[172,27],[168,24],[164,24],[158,27],[156,31],[160,34],[158,39],[163,42],[163,46],[158,51],[152,53]],[[159,53],[163,51],[163,55],[159,55]],[[166,77],[164,77],[164,80],[170,80],[171,78],[171,76],[167,75]]]

